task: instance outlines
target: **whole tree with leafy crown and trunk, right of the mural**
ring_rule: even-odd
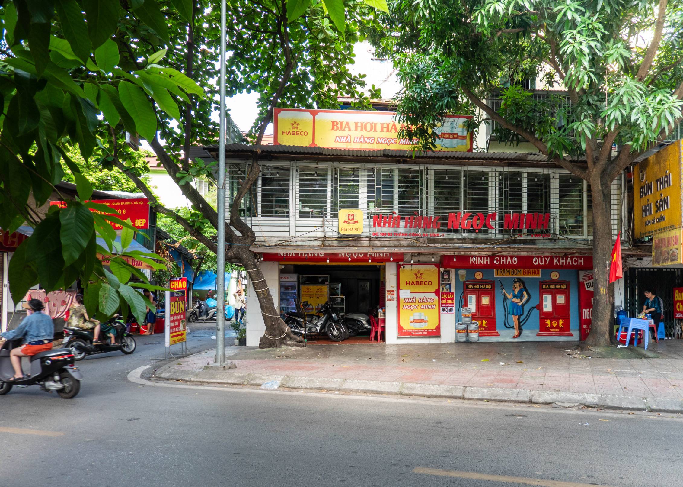
[[[398,110],[405,135],[430,148],[444,114],[473,114],[473,128],[497,122],[500,140],[531,142],[590,183],[597,291],[589,341],[607,343],[609,187],[681,120],[683,3],[396,0],[390,12],[374,42],[404,85]],[[537,77],[559,85],[562,99],[521,88]],[[499,111],[490,98],[500,98]]]

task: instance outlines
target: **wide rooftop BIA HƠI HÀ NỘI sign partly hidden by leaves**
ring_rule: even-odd
[[[400,137],[395,111],[276,108],[273,144],[337,149],[410,150],[417,141]],[[472,152],[467,115],[447,115],[436,127],[437,151]]]

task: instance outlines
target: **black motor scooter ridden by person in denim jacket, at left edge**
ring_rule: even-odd
[[[74,355],[68,348],[57,348],[32,355],[29,376],[14,382],[5,382],[14,376],[10,362],[10,351],[20,346],[20,340],[5,341],[0,347],[0,395],[7,394],[12,386],[39,385],[42,391],[57,391],[59,397],[71,399],[81,390],[83,376],[74,367]]]

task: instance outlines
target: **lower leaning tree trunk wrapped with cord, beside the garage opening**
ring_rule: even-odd
[[[303,347],[303,339],[292,334],[290,327],[285,325],[281,317],[277,314],[277,309],[273,303],[273,296],[268,289],[268,282],[263,276],[261,268],[258,266],[253,252],[245,247],[238,247],[234,249],[235,254],[240,259],[242,265],[245,266],[247,275],[251,279],[256,298],[258,299],[263,321],[266,324],[266,332],[261,337],[259,348],[278,348],[283,345]],[[272,284],[272,283],[271,283]],[[277,285],[277,283],[276,283]]]

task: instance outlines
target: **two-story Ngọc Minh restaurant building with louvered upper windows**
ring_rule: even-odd
[[[480,340],[506,341],[514,330],[500,288],[510,293],[522,278],[520,340],[579,339],[592,300],[587,183],[538,153],[471,152],[457,120],[434,152],[396,148],[409,141],[395,139],[391,118],[276,114],[275,145],[259,147],[261,172],[240,214],[280,312],[294,295],[311,313],[326,300],[340,313],[379,307],[387,343],[447,343],[467,306]],[[229,202],[252,150],[226,148]],[[624,185],[620,177],[611,187],[614,237]],[[247,310],[247,345],[257,345],[264,324],[255,302]]]

